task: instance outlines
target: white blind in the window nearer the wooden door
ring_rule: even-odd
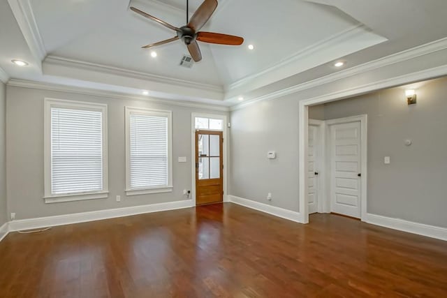
[[[169,181],[169,118],[129,114],[130,189],[163,188]]]

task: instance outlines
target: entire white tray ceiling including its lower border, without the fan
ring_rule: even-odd
[[[189,2],[192,15],[201,1]],[[140,48],[175,32],[133,13],[129,1],[8,3],[0,2],[0,40],[9,40],[0,67],[10,77],[221,105],[291,77],[337,71],[328,68],[337,59],[353,66],[447,34],[444,0],[221,0],[203,31],[245,43],[200,43],[203,60],[189,69],[179,66],[187,54],[180,41],[156,48],[156,59]],[[131,5],[176,27],[186,23],[186,0]],[[17,58],[30,66],[13,66]]]

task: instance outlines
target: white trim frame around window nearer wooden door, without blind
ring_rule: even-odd
[[[125,107],[126,112],[126,195],[147,195],[152,193],[170,193],[173,191],[173,112],[144,107]],[[131,113],[168,117],[168,185],[152,188],[131,188]]]

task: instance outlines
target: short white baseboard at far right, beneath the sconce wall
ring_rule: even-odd
[[[369,213],[366,215],[365,222],[372,223],[373,225],[380,225],[385,228],[420,234],[426,237],[447,241],[447,228],[436,227],[434,225],[425,225],[423,223],[413,223],[400,218],[391,218]]]

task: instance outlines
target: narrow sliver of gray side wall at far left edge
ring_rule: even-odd
[[[6,85],[0,82],[0,226],[8,221],[6,206]]]

